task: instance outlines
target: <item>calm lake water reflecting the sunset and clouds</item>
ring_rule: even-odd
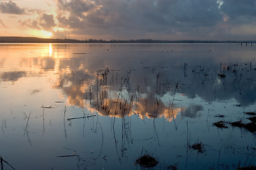
[[[0,156],[15,169],[144,169],[144,154],[152,169],[255,165],[255,59],[255,45],[0,44]]]

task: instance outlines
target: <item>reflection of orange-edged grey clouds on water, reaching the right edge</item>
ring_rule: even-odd
[[[61,80],[55,87],[65,91],[71,105],[90,106],[100,115],[117,118],[138,114],[142,119],[164,116],[171,121],[178,114],[188,118],[201,116],[203,106],[200,103],[188,105],[179,101],[176,94],[187,98],[200,96],[209,102],[235,98],[242,106],[255,103],[256,97],[252,95],[254,70],[246,69],[242,64],[233,66],[232,71],[226,66],[216,71],[217,67],[186,68],[186,77],[170,76],[166,72],[140,74],[137,70],[123,72],[107,68],[94,73],[79,69],[60,74]],[[222,74],[225,77],[221,77]]]

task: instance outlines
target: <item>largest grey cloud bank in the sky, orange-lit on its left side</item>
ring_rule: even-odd
[[[60,25],[74,33],[116,37],[178,35],[223,21],[215,0],[58,0],[58,13]]]

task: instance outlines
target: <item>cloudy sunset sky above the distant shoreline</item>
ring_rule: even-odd
[[[256,40],[256,1],[0,0],[0,36]]]

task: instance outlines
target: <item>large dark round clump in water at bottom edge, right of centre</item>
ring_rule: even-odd
[[[154,157],[151,157],[149,154],[144,154],[144,156],[139,157],[135,164],[139,164],[139,166],[145,167],[145,168],[152,168],[159,164],[158,161]]]

